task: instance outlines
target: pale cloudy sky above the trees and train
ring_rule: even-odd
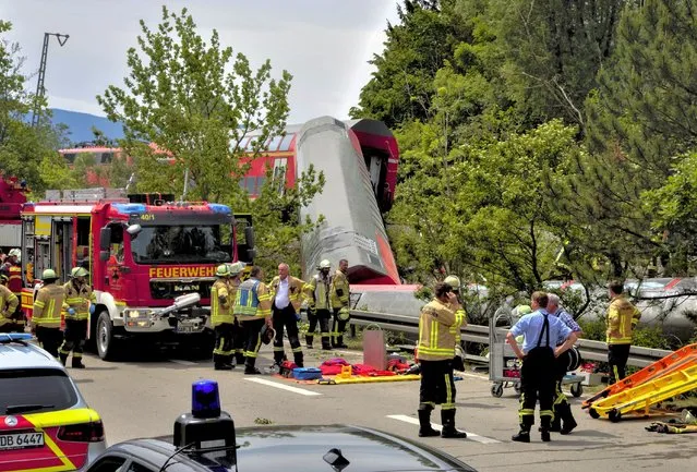
[[[276,77],[290,72],[289,123],[348,118],[374,70],[368,61],[383,50],[387,21],[397,23],[397,0],[0,0],[0,19],[12,22],[5,39],[21,45],[32,90],[44,33],[70,35],[63,47],[50,38],[49,107],[104,116],[95,96],[123,86],[139,21],[154,29],[163,4],[187,7],[206,43],[215,28],[254,68],[269,59]]]

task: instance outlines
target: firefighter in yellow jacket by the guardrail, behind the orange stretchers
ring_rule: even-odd
[[[608,308],[608,364],[610,364],[610,379],[608,385],[620,382],[625,377],[632,334],[641,318],[641,312],[622,293],[624,283],[612,281],[609,283],[610,307]]]

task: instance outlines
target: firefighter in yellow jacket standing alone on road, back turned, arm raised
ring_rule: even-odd
[[[437,436],[431,426],[431,411],[441,404],[442,437],[465,438],[455,428],[455,380],[453,358],[460,326],[466,324],[465,310],[447,283],[435,286],[435,298],[421,308],[419,317],[418,356],[421,364],[419,396],[419,436]]]

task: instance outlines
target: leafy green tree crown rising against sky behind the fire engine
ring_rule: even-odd
[[[196,182],[191,196],[229,198],[238,189],[230,184],[231,176],[243,173],[239,157],[247,133],[261,130],[256,152],[269,136],[280,134],[291,75],[284,71],[280,80],[271,78],[268,61],[253,71],[242,53],[233,60],[232,48],[220,46],[215,29],[206,44],[187,9],[177,14],[164,7],[157,29],[143,21],[141,29],[141,51],[128,51],[125,89],[111,85],[97,100],[110,120],[123,122],[124,148],[140,168],[153,166],[163,155],[148,153],[152,148],[139,142],[166,149],[173,160],[164,168],[167,190],[181,194],[188,170]],[[139,176],[139,187],[147,184]]]

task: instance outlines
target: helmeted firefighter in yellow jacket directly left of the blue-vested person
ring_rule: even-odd
[[[232,304],[235,295],[230,296],[230,277],[232,273],[227,264],[219,265],[217,280],[211,288],[211,325],[215,331],[215,348],[213,349],[213,364],[216,371],[230,371],[232,365],[232,335],[235,330],[235,315]]]

